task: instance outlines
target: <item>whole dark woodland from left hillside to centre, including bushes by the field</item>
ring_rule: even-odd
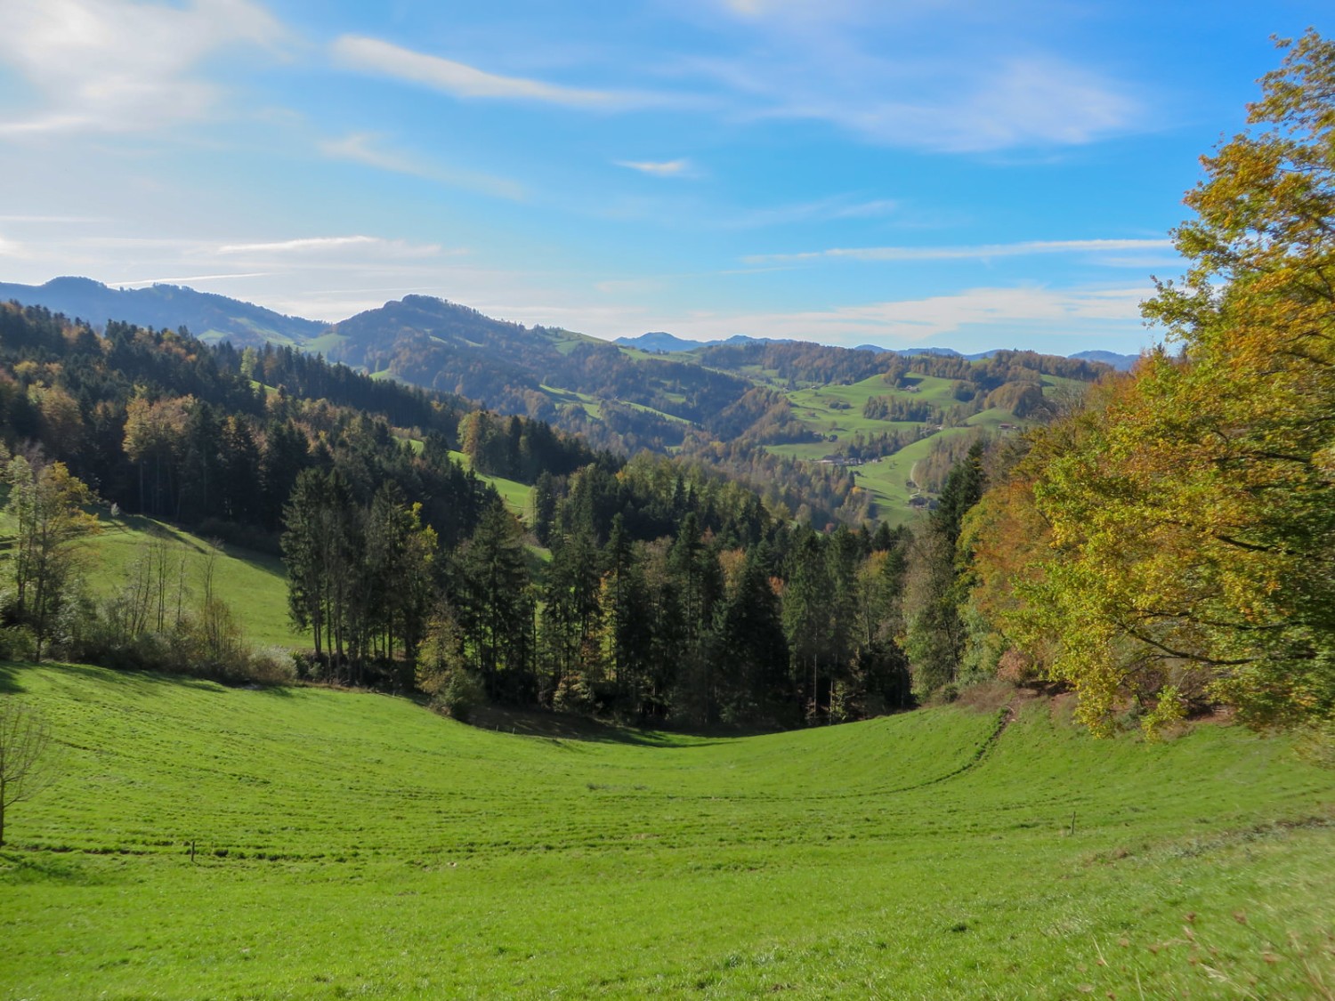
[[[817,533],[700,463],[594,452],[290,348],[117,323],[99,335],[13,304],[0,323],[15,547],[63,518],[51,557],[96,530],[77,514],[93,492],[112,518],[276,541],[307,677],[417,686],[461,715],[489,698],[793,725],[912,701],[896,639],[905,531]],[[454,447],[531,482],[526,523]],[[156,559],[103,595],[73,563],[12,561],[8,649],[244,677],[244,623],[207,583],[183,613]]]

